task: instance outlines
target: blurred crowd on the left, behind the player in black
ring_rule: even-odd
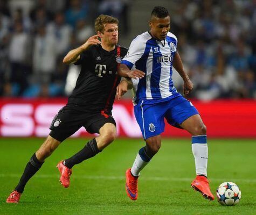
[[[75,82],[79,71],[64,56],[95,34],[102,13],[128,28],[127,6],[127,0],[0,0],[0,96],[70,94],[74,83],[66,80]]]

